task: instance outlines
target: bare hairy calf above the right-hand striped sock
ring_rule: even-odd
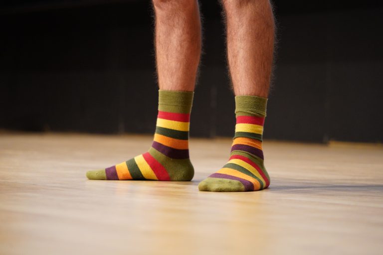
[[[269,0],[222,0],[226,14],[227,58],[236,96],[267,98],[274,46]]]

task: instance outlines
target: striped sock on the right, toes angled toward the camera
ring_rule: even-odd
[[[266,103],[256,96],[235,97],[237,122],[229,161],[199,183],[200,191],[256,191],[269,186],[262,152]]]

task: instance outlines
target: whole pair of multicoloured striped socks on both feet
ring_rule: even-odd
[[[190,181],[189,127],[193,92],[159,91],[156,132],[144,154],[111,167],[88,171],[91,180]],[[201,181],[200,191],[256,191],[269,186],[262,133],[267,99],[236,96],[236,126],[229,161]]]

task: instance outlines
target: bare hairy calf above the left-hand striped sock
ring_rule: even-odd
[[[193,91],[201,51],[196,0],[153,0],[156,60],[162,90]]]

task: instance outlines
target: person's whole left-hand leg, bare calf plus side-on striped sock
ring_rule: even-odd
[[[198,3],[153,3],[160,87],[153,144],[149,151],[125,162],[88,171],[88,179],[190,181],[194,175],[189,159],[189,118],[201,49]]]

